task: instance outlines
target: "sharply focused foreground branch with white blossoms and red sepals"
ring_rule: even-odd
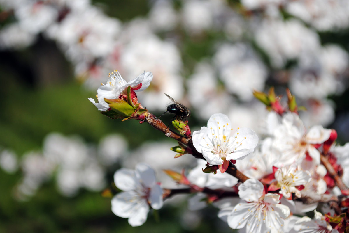
[[[137,82],[129,82],[128,87],[122,88],[132,90],[132,86],[142,86],[143,79],[134,80]],[[118,93],[124,92],[122,88]],[[140,123],[147,122],[181,142],[179,147],[171,148],[179,152],[174,160],[192,154],[202,162],[198,162],[187,174],[184,170],[180,173],[165,170],[178,185],[187,189],[165,188],[164,184],[156,183],[154,170],[146,164],[136,165],[134,171],[118,170],[114,182],[123,192],[111,201],[113,213],[128,218],[132,226],[139,226],[146,221],[150,208],[157,210],[170,196],[183,192],[195,193],[189,200],[190,209],[200,210],[213,203],[219,209],[219,218],[229,227],[242,229],[243,232],[322,232],[324,229],[324,232],[344,232],[343,227],[349,222],[340,215],[342,212],[334,209],[324,216],[320,211],[329,208],[330,201],[338,202],[340,206],[349,200],[341,197],[348,194],[349,180],[344,175],[348,170],[345,166],[347,153],[344,152],[347,145],[336,145],[335,130],[321,125],[307,129],[290,93],[288,108],[282,106],[280,99],[273,98],[273,92],[269,95],[254,94],[259,99],[265,96],[264,103],[275,110],[266,115],[263,132],[259,136],[247,127],[234,130],[224,114],[212,115],[207,127],[202,126],[192,134],[188,121],[173,124],[179,132],[175,134],[168,127],[159,126],[164,124],[150,112],[145,114],[145,119],[134,117],[141,120]],[[132,105],[128,100],[131,96],[136,99],[133,102],[138,103],[137,95],[129,91],[127,98],[117,94],[114,96],[116,100],[107,101],[110,107],[107,112],[118,112],[124,108],[116,106],[114,102],[117,101]],[[181,114],[180,111],[172,113],[176,116]],[[130,118],[128,115],[124,117]],[[337,163],[338,159],[343,163]],[[320,211],[319,203],[322,204]],[[315,211],[314,219],[300,217],[309,211]],[[342,216],[340,223],[338,218],[337,222],[331,219],[337,215]]]

